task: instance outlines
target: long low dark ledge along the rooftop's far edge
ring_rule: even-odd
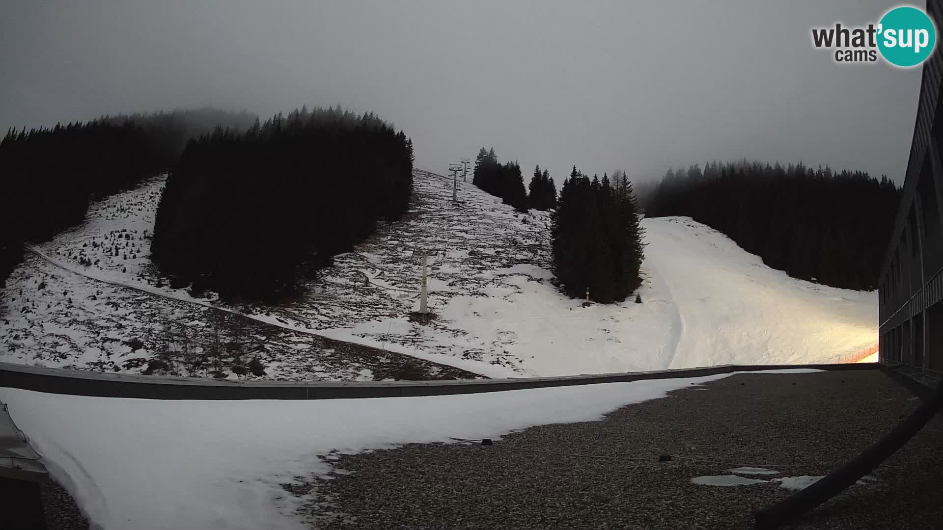
[[[228,381],[198,377],[162,377],[127,373],[97,373],[0,363],[0,387],[57,394],[139,399],[356,399],[406,397],[504,390],[539,389],[641,379],[701,377],[718,373],[812,368],[819,370],[876,370],[878,363],[804,365],[721,365],[658,372],[603,373],[564,377],[485,379],[471,381]]]

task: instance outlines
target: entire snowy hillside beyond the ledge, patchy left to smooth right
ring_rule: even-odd
[[[142,235],[153,232],[161,188],[162,180],[155,179],[103,201],[90,208],[85,224],[38,245],[37,250],[59,265],[86,274],[69,280],[81,282],[81,290],[94,288],[96,278],[113,282],[99,286],[108,293],[108,303],[76,297],[79,289],[72,285],[53,285],[64,282],[68,273],[51,261],[27,259],[11,275],[8,289],[0,290],[9,309],[0,345],[16,344],[19,350],[7,356],[0,352],[3,360],[29,362],[35,353],[23,356],[25,350],[50,347],[55,348],[53,365],[137,371],[140,361],[130,367],[121,362],[84,363],[90,356],[83,344],[89,341],[63,340],[88,335],[92,315],[114,306],[116,314],[102,315],[113,321],[109,337],[122,344],[132,335],[141,336],[145,348],[138,358],[153,351],[154,334],[141,328],[157,327],[159,320],[134,321],[137,313],[128,310],[146,297],[126,294],[114,283],[142,287],[174,305],[219,304],[158,282],[148,259],[150,240]],[[876,293],[790,278],[687,218],[644,220],[648,246],[642,304],[629,299],[618,305],[584,306],[583,300],[568,299],[551,283],[547,213],[515,212],[461,181],[460,202],[454,205],[451,179],[423,171],[415,173],[414,188],[402,221],[382,226],[370,240],[336,257],[333,266],[306,286],[300,300],[256,308],[252,317],[282,332],[301,333],[293,340],[307,340],[307,334],[314,333],[491,377],[839,362],[877,342]],[[422,256],[430,270],[429,307],[437,315],[430,323],[408,319],[418,307]],[[44,290],[36,281],[39,274],[48,284]],[[59,293],[68,300],[56,300]],[[89,304],[97,305],[85,307]],[[76,306],[83,310],[74,310]],[[201,314],[188,311],[188,319],[195,323]],[[286,347],[276,352],[270,347],[269,355],[279,367],[278,378],[311,376],[304,368],[310,364],[308,351]],[[43,357],[50,365],[51,357]],[[351,377],[318,370],[322,379],[332,373]]]

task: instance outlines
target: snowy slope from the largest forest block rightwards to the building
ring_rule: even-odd
[[[325,276],[356,284],[353,276],[360,274],[371,284],[379,278],[415,293],[421,267],[416,256],[431,247],[430,307],[438,320],[407,322],[405,311],[417,302],[406,296],[395,298],[399,315],[391,310],[384,318],[378,311],[380,318],[321,326],[321,333],[404,353],[479,359],[490,365],[479,372],[491,376],[840,362],[877,342],[875,292],[790,278],[687,218],[643,222],[648,246],[642,304],[630,299],[585,307],[549,281],[547,214],[515,213],[461,182],[463,204],[453,207],[449,179],[420,173],[416,182],[420,200],[418,215],[407,221],[412,226],[339,257]],[[286,312],[287,318],[304,320],[306,307]]]

